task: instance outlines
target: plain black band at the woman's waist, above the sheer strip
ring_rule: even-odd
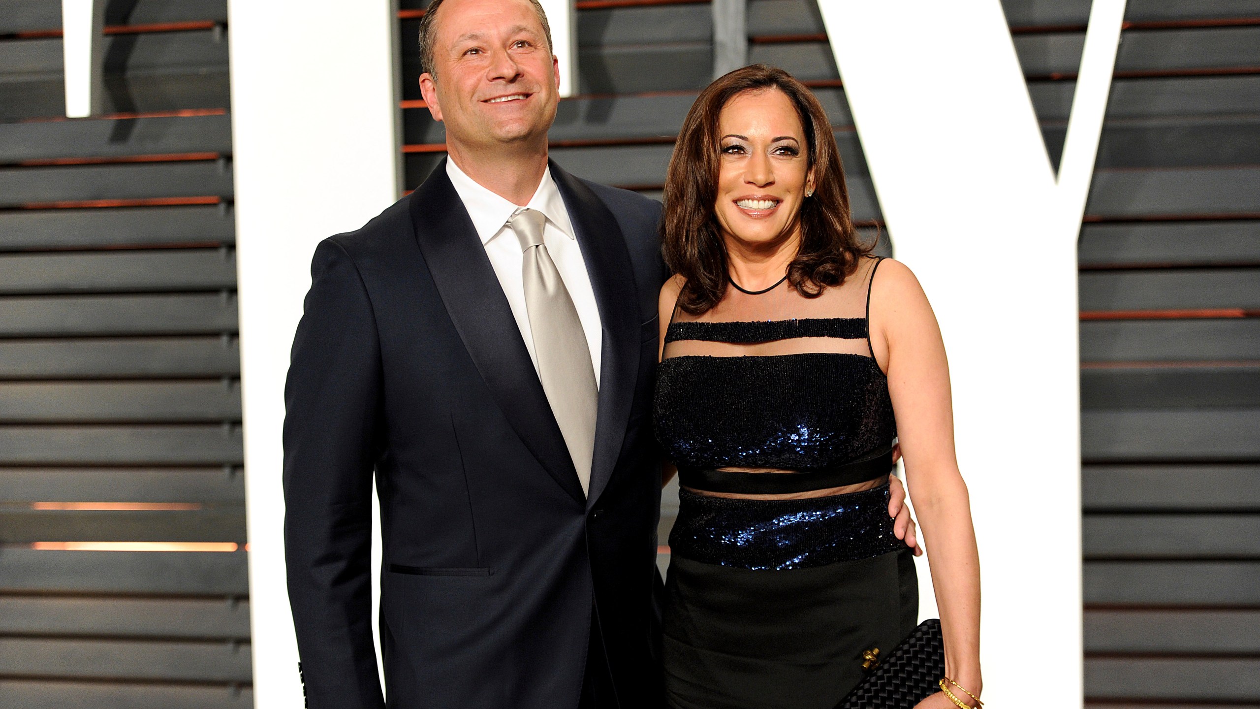
[[[833,468],[791,473],[743,473],[716,468],[679,468],[678,483],[704,492],[737,495],[782,495],[843,487],[873,481],[892,471],[892,448]]]

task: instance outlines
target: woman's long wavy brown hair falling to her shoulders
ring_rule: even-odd
[[[800,212],[788,225],[789,232],[798,225],[801,231],[800,251],[788,266],[789,283],[806,298],[816,298],[824,288],[844,283],[873,247],[853,228],[835,135],[814,92],[775,67],[736,69],[708,85],[692,105],[665,178],[662,254],[670,270],[687,279],[678,304],[693,315],[717,305],[730,281],[714,213],[721,169],[718,117],[740,93],[771,88],[784,92],[796,107],[805,126],[808,164],[814,169],[814,196],[801,201]]]

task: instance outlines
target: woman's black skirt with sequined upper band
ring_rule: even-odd
[[[887,486],[813,500],[683,491],[665,583],[674,709],[833,709],[917,623]],[[878,513],[877,513],[878,512]]]

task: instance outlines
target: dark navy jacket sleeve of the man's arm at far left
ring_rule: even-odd
[[[383,709],[372,641],[381,348],[345,250],[315,250],[285,385],[285,560],[310,709]]]

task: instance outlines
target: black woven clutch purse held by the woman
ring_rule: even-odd
[[[835,709],[911,709],[940,691],[945,676],[941,622],[924,621],[835,705]]]

